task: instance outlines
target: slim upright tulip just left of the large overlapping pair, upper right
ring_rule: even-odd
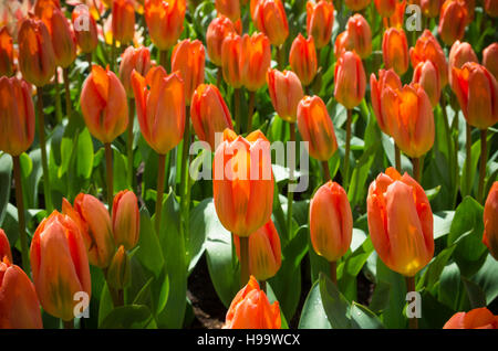
[[[360,105],[365,96],[366,76],[362,60],[356,53],[346,51],[335,65],[334,96],[345,108]]]

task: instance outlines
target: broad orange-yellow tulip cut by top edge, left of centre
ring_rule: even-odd
[[[186,0],[145,0],[145,22],[157,49],[173,47],[184,30]]]

